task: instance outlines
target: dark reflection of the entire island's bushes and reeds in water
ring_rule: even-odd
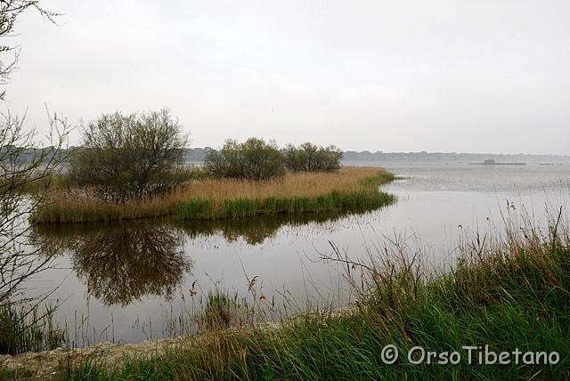
[[[218,221],[138,221],[35,226],[34,244],[46,252],[69,254],[77,279],[85,284],[86,297],[102,304],[126,306],[143,296],[170,299],[192,270],[185,247],[210,245],[208,238],[223,237],[261,245],[277,239],[284,226],[300,228],[310,223],[327,226],[350,214],[270,215]],[[311,232],[313,234],[314,231]],[[220,262],[224,266],[224,261]]]

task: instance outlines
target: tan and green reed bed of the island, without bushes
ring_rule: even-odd
[[[163,197],[102,202],[90,190],[56,189],[31,220],[35,223],[93,223],[171,216],[216,220],[284,213],[346,212],[387,205],[379,192],[394,179],[378,167],[343,167],[335,173],[289,173],[269,182],[197,179]]]

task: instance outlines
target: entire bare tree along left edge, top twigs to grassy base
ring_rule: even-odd
[[[53,21],[56,13],[45,11],[38,0],[0,2],[0,37],[12,36],[20,14],[39,12]],[[12,57],[5,57],[13,53]],[[0,103],[4,106],[5,89],[17,69],[19,47],[0,43]],[[8,108],[0,114],[0,353],[43,349],[50,332],[41,328],[38,304],[43,298],[28,299],[20,294],[29,277],[44,271],[53,263],[52,250],[30,247],[28,215],[47,198],[52,176],[67,158],[65,144],[69,125],[65,118],[50,115],[49,147],[37,146],[36,131],[24,128]],[[22,304],[17,307],[14,304]]]

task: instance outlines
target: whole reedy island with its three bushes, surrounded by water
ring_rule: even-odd
[[[334,145],[279,148],[249,138],[208,150],[200,166],[184,159],[187,134],[168,109],[102,115],[48,188],[33,223],[93,223],[170,217],[218,220],[256,215],[350,213],[394,201],[379,167],[343,167]]]

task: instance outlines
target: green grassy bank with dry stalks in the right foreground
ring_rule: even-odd
[[[508,214],[503,228],[460,237],[457,264],[435,275],[405,242],[374,246],[358,263],[335,249],[360,300],[350,312],[300,315],[281,328],[211,329],[167,354],[126,357],[118,369],[93,359],[61,378],[570,379],[562,216],[542,231]]]

